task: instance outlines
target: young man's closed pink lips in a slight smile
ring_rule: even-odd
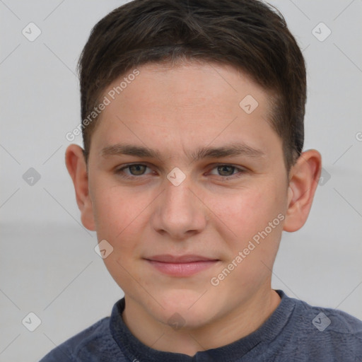
[[[155,255],[144,258],[153,268],[170,276],[192,276],[220,262],[200,255]]]

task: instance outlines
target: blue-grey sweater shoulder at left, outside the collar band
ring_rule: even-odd
[[[110,317],[105,317],[59,344],[40,362],[115,361],[114,358],[123,361],[119,354],[119,348],[110,332]]]

